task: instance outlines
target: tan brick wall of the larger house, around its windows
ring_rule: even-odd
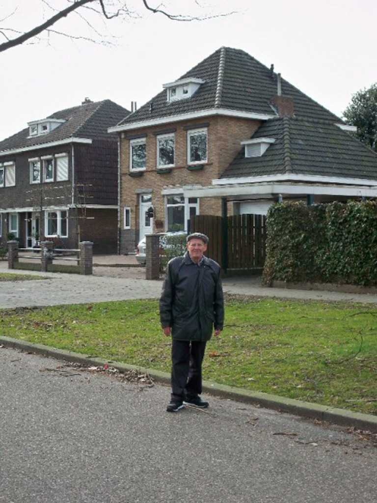
[[[187,170],[187,131],[186,126],[207,122],[208,125],[208,162],[203,170]],[[259,126],[258,121],[214,116],[204,120],[182,121],[161,127],[154,126],[135,129],[121,134],[121,249],[127,249],[139,236],[139,195],[152,190],[154,207],[154,232],[165,231],[165,201],[161,194],[168,188],[179,189],[183,185],[211,185],[213,179],[219,178],[229,163],[241,150],[240,142],[248,139]],[[175,129],[175,166],[171,173],[156,173],[157,141],[156,132],[164,129]],[[127,136],[146,134],[147,162],[142,176],[129,176],[129,143]],[[123,229],[123,208],[131,209],[131,229]],[[200,200],[201,214],[221,214],[219,199],[203,198]],[[156,221],[162,226],[156,227]]]

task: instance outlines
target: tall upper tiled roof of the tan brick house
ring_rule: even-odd
[[[177,80],[187,77],[205,80],[191,98],[168,103],[163,90],[118,125],[214,108],[276,115],[270,101],[277,95],[277,75],[245,51],[222,47]],[[281,94],[293,98],[297,117],[342,122],[285,79]]]

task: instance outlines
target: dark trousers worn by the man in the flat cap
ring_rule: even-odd
[[[172,340],[172,401],[193,399],[202,393],[202,363],[205,350],[206,342]]]

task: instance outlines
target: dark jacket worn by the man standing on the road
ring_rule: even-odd
[[[203,257],[195,264],[189,253],[169,261],[160,298],[162,327],[171,326],[178,341],[208,341],[223,329],[224,298],[220,266]]]

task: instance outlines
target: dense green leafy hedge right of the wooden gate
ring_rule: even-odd
[[[266,284],[377,285],[377,201],[277,203],[266,227]]]

